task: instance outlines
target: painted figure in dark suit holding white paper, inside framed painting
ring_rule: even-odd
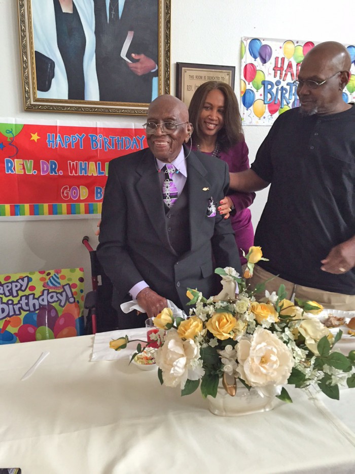
[[[158,64],[158,0],[94,0],[100,101],[150,103]]]

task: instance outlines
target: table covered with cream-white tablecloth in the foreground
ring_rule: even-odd
[[[355,419],[348,417],[355,392],[342,390],[331,411],[290,390],[293,404],[216,417],[200,392],[180,397],[160,386],[155,370],[89,362],[93,337],[0,347],[0,467],[22,474],[355,472]],[[20,381],[44,351],[48,357]]]

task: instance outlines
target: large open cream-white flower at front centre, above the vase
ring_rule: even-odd
[[[287,384],[294,365],[289,347],[260,326],[251,337],[239,341],[237,358],[240,377],[251,387],[266,388],[261,390],[264,395],[273,394],[277,385]]]

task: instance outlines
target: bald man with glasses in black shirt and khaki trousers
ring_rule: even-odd
[[[259,262],[253,285],[286,285],[288,297],[328,308],[355,309],[355,107],[342,99],[350,56],[325,42],[302,62],[300,107],[278,117],[251,170],[231,176],[242,192],[269,196],[255,234],[269,262]],[[270,275],[271,273],[271,275]]]

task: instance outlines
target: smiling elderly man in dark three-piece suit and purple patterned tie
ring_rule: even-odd
[[[187,287],[218,294],[215,268],[240,272],[240,261],[229,219],[217,210],[228,168],[183,146],[192,134],[185,104],[159,96],[145,127],[149,149],[110,162],[97,256],[117,291],[116,308],[133,298],[153,317],[166,299],[188,312]],[[119,314],[119,327],[142,326],[144,318]]]

